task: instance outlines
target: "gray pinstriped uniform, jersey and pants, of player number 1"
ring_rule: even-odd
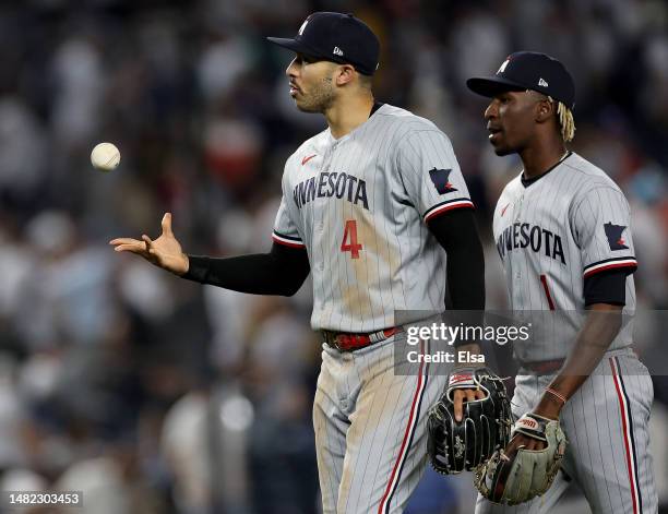
[[[568,154],[527,186],[520,177],[508,184],[494,211],[493,231],[512,309],[556,311],[552,326],[526,343],[515,343],[520,359],[568,355],[578,330],[575,310],[585,307],[584,279],[606,270],[635,270],[631,228],[623,193],[577,154]],[[633,312],[631,274],[625,301],[624,311]],[[628,347],[631,342],[628,324],[563,407],[560,422],[570,444],[564,473],[547,493],[516,506],[496,505],[478,497],[476,514],[552,512],[571,480],[583,490],[594,514],[657,512],[648,453],[653,386],[647,369]],[[533,410],[552,378],[518,375],[514,415]]]

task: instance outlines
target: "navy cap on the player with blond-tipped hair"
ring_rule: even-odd
[[[494,96],[504,91],[533,89],[575,107],[575,84],[565,67],[557,59],[537,51],[517,51],[508,56],[493,76],[466,81],[470,91]]]

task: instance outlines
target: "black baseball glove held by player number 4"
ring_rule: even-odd
[[[481,399],[465,402],[462,421],[454,417],[453,392],[481,389]],[[470,471],[496,450],[505,447],[513,418],[505,385],[487,368],[460,368],[448,379],[448,389],[429,411],[429,461],[440,474]]]

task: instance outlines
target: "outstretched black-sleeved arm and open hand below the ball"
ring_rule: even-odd
[[[171,231],[171,215],[163,217],[163,234],[151,240],[119,238],[109,241],[119,252],[129,251],[176,275],[201,284],[254,295],[293,296],[309,275],[305,249],[274,243],[269,253],[234,258],[187,255]]]

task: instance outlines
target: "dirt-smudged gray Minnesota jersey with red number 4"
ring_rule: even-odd
[[[305,142],[285,165],[273,238],[309,253],[312,327],[368,333],[398,310],[441,312],[445,253],[425,222],[462,207],[473,203],[450,140],[404,109]]]

